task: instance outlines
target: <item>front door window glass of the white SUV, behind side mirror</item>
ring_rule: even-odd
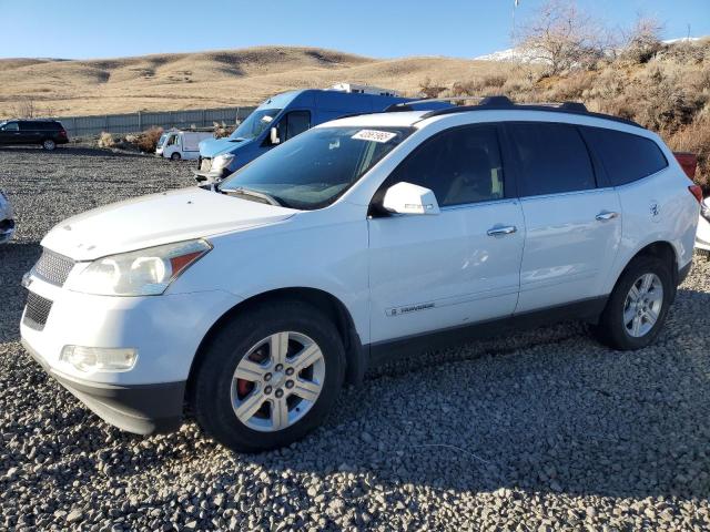
[[[504,197],[496,127],[456,127],[429,139],[397,166],[385,186],[403,181],[429,188],[440,206]]]

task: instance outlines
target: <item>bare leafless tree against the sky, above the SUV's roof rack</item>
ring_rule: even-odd
[[[524,62],[540,63],[545,74],[588,68],[604,58],[607,32],[575,2],[544,3],[517,33]]]

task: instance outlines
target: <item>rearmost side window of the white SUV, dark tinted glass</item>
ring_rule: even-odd
[[[663,152],[650,139],[602,127],[582,131],[613,186],[641,180],[668,166]]]

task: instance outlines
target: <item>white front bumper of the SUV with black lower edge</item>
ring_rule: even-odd
[[[22,314],[22,344],[44,370],[102,419],[146,434],[180,426],[190,368],[212,325],[240,299],[213,290],[152,297],[74,293],[30,274],[49,303],[43,324]],[[64,346],[134,348],[128,371],[83,372],[60,360]]]

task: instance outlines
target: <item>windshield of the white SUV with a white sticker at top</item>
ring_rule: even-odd
[[[332,204],[406,139],[412,127],[316,127],[273,149],[222,183],[222,192],[266,194],[285,207]]]

